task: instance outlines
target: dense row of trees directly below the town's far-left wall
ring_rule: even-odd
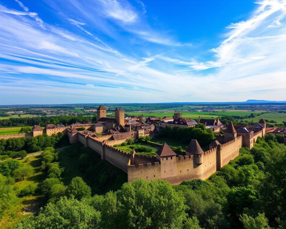
[[[63,133],[38,135],[36,137],[18,137],[0,139],[0,155],[12,155],[19,151],[37,152],[46,147],[55,147],[68,144],[68,137]]]

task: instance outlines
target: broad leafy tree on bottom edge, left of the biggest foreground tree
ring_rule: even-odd
[[[87,201],[61,197],[55,204],[48,203],[38,216],[32,214],[16,225],[16,229],[99,229],[100,212]]]

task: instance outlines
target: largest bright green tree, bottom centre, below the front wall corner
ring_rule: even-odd
[[[166,181],[137,179],[105,195],[102,228],[181,228],[184,197]]]

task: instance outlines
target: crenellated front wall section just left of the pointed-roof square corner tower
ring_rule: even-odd
[[[127,166],[128,182],[136,180],[137,178],[142,178],[143,180],[158,180],[161,179],[161,165],[159,162],[155,162],[154,165],[148,163],[146,166],[143,164],[138,165],[128,165]]]

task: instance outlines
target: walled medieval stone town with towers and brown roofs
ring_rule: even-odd
[[[166,126],[193,127],[198,123],[203,123],[214,132],[224,131],[224,134],[215,134],[217,140],[209,145],[207,151],[202,150],[197,140],[191,139],[185,156],[177,155],[167,143],[156,151],[156,157],[136,154],[134,149],[127,153],[114,147],[130,138],[156,137],[160,129]],[[76,122],[70,126],[47,124],[44,129],[35,125],[31,133],[3,135],[1,138],[67,134],[70,143],[80,142],[100,154],[102,160],[122,169],[128,175],[128,182],[142,178],[180,184],[184,180],[208,178],[237,157],[241,147],[252,148],[257,137],[263,137],[266,132],[271,130],[267,130],[263,119],[252,127],[233,125],[231,122],[223,125],[218,118],[199,117],[196,122],[184,119],[182,113],[176,112],[173,117],[147,117],[144,122],[143,115],[125,117],[124,110],[118,108],[115,109],[115,117],[107,117],[106,108],[101,105],[97,109],[97,123]]]

